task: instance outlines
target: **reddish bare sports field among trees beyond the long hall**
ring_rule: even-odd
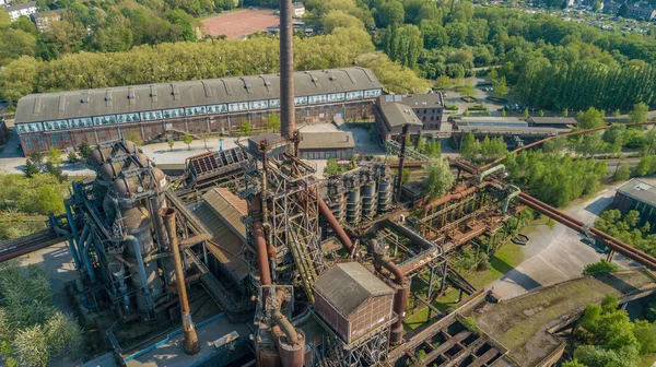
[[[253,33],[266,31],[280,23],[273,10],[241,10],[216,15],[202,21],[206,33],[212,37],[225,35],[227,38],[243,38]]]

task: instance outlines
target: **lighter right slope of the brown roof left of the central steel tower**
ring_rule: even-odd
[[[209,190],[202,196],[202,200],[235,232],[235,235],[246,241],[246,225],[242,223],[242,216],[248,215],[246,200],[239,199],[225,188]]]

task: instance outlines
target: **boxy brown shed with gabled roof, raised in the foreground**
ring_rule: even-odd
[[[358,262],[337,264],[314,284],[315,312],[351,344],[393,319],[394,289]]]

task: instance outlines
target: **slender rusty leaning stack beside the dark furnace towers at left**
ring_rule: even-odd
[[[183,317],[183,331],[185,333],[185,353],[196,354],[200,351],[198,336],[191,321],[191,310],[189,309],[189,300],[187,299],[187,287],[185,285],[185,274],[183,273],[183,260],[180,259],[180,247],[178,245],[177,234],[175,232],[175,213],[174,208],[164,208],[160,212],[164,218],[166,233],[171,245],[171,256],[175,268],[175,283],[178,289],[178,298],[180,299],[180,313]]]

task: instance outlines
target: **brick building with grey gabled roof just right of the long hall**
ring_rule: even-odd
[[[410,132],[440,131],[444,115],[441,93],[384,95],[376,100],[376,129],[382,140],[401,133],[403,125]]]

